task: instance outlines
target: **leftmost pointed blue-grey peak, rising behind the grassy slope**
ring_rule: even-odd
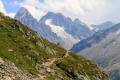
[[[25,7],[20,8],[14,19],[17,19],[23,24],[29,26],[32,30],[36,30],[36,28],[39,27],[37,20],[30,14],[30,12]]]

